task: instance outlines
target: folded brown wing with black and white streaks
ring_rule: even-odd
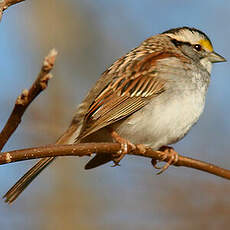
[[[89,106],[78,139],[131,115],[161,94],[166,81],[159,77],[156,63],[172,56],[172,53],[151,53],[127,64],[121,76],[111,76],[111,81]]]

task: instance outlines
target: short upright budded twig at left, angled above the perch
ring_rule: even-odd
[[[5,127],[0,133],[0,151],[20,124],[22,116],[27,107],[47,87],[48,81],[52,77],[49,72],[53,68],[56,56],[57,51],[54,49],[51,50],[48,56],[44,59],[41,71],[31,88],[29,90],[23,90],[22,94],[17,98],[14,109]]]

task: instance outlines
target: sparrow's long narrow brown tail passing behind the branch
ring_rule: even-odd
[[[74,143],[78,127],[71,125],[58,139],[57,145]],[[56,157],[47,157],[38,161],[28,172],[22,176],[15,185],[3,196],[5,202],[12,203],[27,186],[45,169]]]

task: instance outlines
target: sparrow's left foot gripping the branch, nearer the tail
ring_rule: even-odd
[[[136,149],[136,146],[131,143],[130,141],[126,140],[125,138],[121,137],[116,131],[114,131],[112,128],[109,128],[110,134],[113,138],[113,140],[121,145],[121,149],[116,153],[113,154],[113,162],[115,166],[120,166],[120,161],[123,159],[123,157],[128,153],[128,151],[132,151]]]

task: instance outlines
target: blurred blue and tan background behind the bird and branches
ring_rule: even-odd
[[[23,117],[4,150],[54,143],[100,74],[144,39],[178,26],[201,29],[230,60],[227,0],[27,0],[0,23],[0,126],[37,76],[51,48],[54,78]],[[230,168],[230,63],[213,68],[198,124],[176,150]],[[149,159],[127,156],[83,169],[88,157],[58,159],[13,204],[0,200],[3,230],[227,229],[230,183],[188,168],[156,176]],[[35,161],[0,167],[1,196]]]

